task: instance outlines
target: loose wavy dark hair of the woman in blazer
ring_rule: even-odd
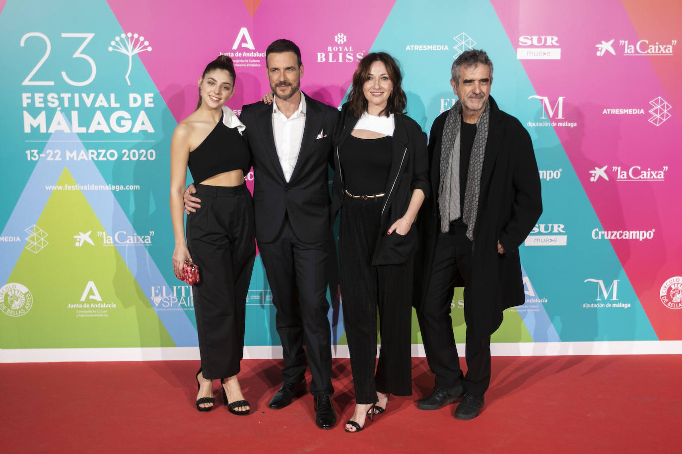
[[[393,82],[393,91],[388,96],[386,108],[381,111],[381,115],[389,116],[390,114],[404,114],[405,106],[407,104],[407,97],[402,91],[402,74],[400,74],[400,67],[398,62],[386,52],[372,52],[363,57],[358,63],[355,74],[353,74],[353,86],[351,86],[351,93],[348,95],[349,108],[351,113],[356,118],[367,110],[367,99],[365,98],[362,87],[370,76],[372,63],[381,61],[386,67],[388,78]]]

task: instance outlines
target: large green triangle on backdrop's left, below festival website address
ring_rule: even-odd
[[[68,169],[57,185],[76,185]],[[0,348],[175,346],[80,190],[53,191],[35,226],[40,244],[27,241],[8,278],[33,306],[0,313]]]

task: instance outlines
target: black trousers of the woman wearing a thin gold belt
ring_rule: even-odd
[[[376,391],[412,394],[413,259],[400,265],[371,265],[381,232],[382,204],[383,198],[346,197],[341,208],[341,297],[357,404],[374,404]],[[379,363],[376,362],[377,307],[381,334]]]

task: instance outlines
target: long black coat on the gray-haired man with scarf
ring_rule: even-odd
[[[490,127],[481,172],[476,225],[473,232],[472,277],[464,302],[467,330],[474,338],[490,336],[499,328],[503,310],[525,301],[518,246],[542,213],[540,179],[531,137],[513,116],[502,112],[489,98]],[[415,278],[415,306],[421,308],[430,282],[439,234],[441,140],[448,112],[431,127],[429,140],[430,181],[434,197],[425,201],[417,218],[420,251]],[[505,254],[497,253],[497,241]],[[420,263],[419,261],[417,263]],[[464,282],[460,282],[463,285]]]

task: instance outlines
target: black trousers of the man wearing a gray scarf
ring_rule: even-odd
[[[454,392],[460,385],[464,392],[482,396],[490,385],[490,336],[473,340],[466,332],[466,375],[460,369],[460,359],[452,332],[450,304],[458,276],[464,278],[464,305],[477,304],[469,299],[471,282],[471,240],[464,231],[439,233],[433,260],[431,280],[426,300],[417,311],[426,359],[436,374],[435,387]],[[466,319],[467,325],[473,321]]]

